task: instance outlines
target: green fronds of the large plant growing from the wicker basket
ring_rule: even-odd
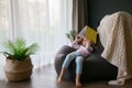
[[[31,54],[35,54],[38,50],[37,43],[33,43],[30,46],[26,46],[25,40],[23,37],[18,37],[14,41],[8,41],[4,43],[6,51],[3,52],[7,55],[11,55],[12,59],[23,61],[29,57]]]

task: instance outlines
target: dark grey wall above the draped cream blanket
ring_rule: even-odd
[[[88,25],[97,29],[106,14],[117,11],[132,13],[132,0],[88,0]]]

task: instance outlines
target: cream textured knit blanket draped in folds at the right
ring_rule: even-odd
[[[98,32],[105,47],[101,56],[119,68],[117,80],[110,84],[123,85],[132,78],[132,15],[123,11],[106,15]]]

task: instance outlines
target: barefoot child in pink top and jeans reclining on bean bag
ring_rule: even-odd
[[[78,44],[78,42],[81,42],[82,44]],[[80,76],[81,76],[81,72],[82,72],[82,62],[84,59],[90,55],[94,51],[92,48],[92,43],[86,38],[84,40],[76,40],[75,42],[73,42],[73,47],[76,48],[75,52],[69,53],[62,66],[62,70],[61,74],[58,76],[57,82],[62,81],[62,78],[66,72],[66,69],[68,68],[70,62],[75,58],[76,62],[76,87],[80,87],[81,82],[80,82]]]

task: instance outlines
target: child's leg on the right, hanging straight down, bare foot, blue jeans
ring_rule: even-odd
[[[77,56],[76,57],[76,87],[80,87],[81,82],[80,82],[80,76],[81,76],[81,72],[82,72],[82,62],[84,62],[84,57],[82,56]]]

